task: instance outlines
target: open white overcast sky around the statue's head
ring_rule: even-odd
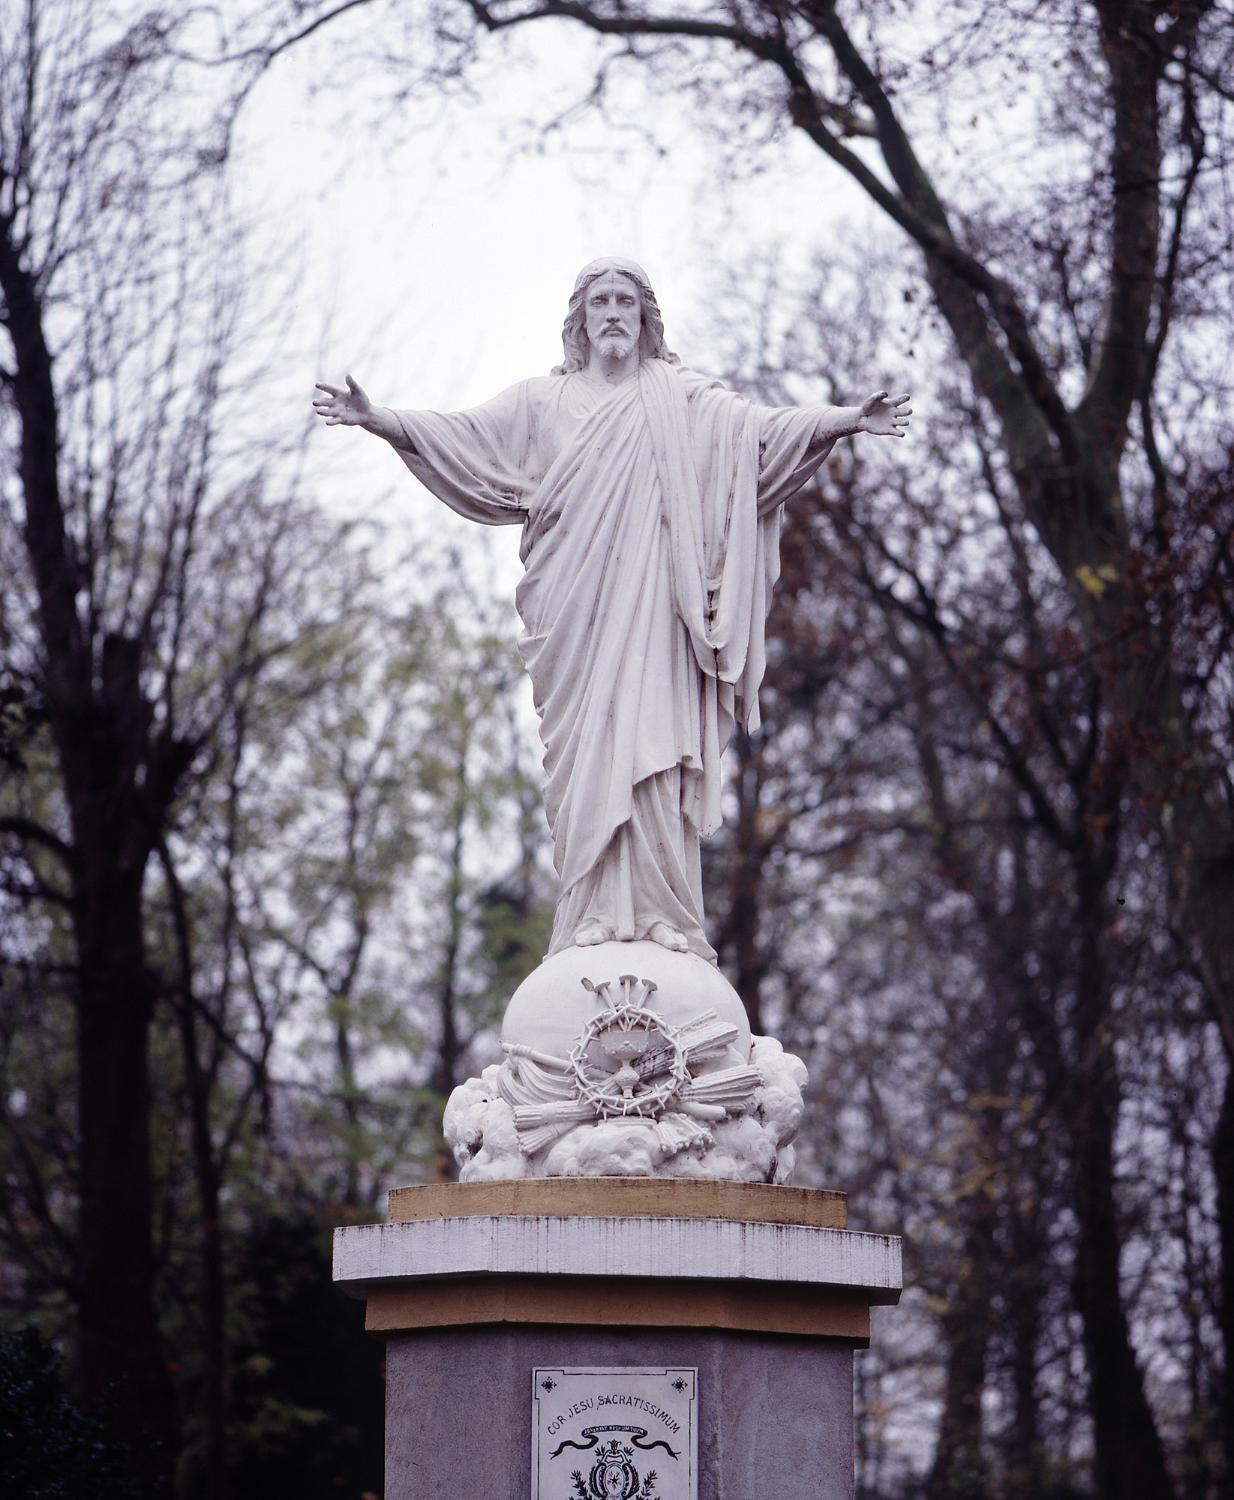
[[[349,370],[384,405],[456,410],[547,374],[574,276],[603,254],[643,264],[670,345],[706,368],[720,262],[765,248],[804,264],[829,237],[882,232],[841,174],[793,136],[765,153],[757,176],[727,183],[669,99],[655,111],[667,154],[594,118],[549,140],[528,132],[529,114],[552,114],[588,76],[591,44],[565,27],[537,33],[535,66],[484,69],[481,98],[466,104],[412,100],[387,114],[375,78],[322,88],[366,15],[376,12],[361,8],[355,22],[285,54],[243,116],[240,200],[303,268],[273,420],[301,420],[318,375]],[[399,483],[367,435],[330,429],[318,446],[348,495],[364,476],[388,513],[394,489],[391,519],[405,504],[432,504],[409,477]],[[447,536],[468,530],[450,514],[433,520]],[[514,550],[513,528],[496,546]]]

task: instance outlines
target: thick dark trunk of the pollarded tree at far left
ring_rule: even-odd
[[[10,219],[0,219],[0,292],[13,346],[25,549],[39,597],[48,720],[72,820],[76,939],[78,1378],[144,1455],[165,1494],[172,1401],[159,1353],[150,1228],[148,1030],[153,992],[142,948],[141,886],[156,778],[141,646],[105,638],[99,660],[76,610],[81,582],[60,492],[58,405],[43,306]],[[172,782],[174,784],[174,782]],[[169,795],[169,794],[168,794]],[[154,1446],[151,1446],[151,1443]]]

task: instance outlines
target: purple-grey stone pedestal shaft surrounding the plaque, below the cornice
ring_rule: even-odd
[[[852,1500],[852,1360],[825,1340],[708,1329],[394,1335],[385,1500],[526,1496],[537,1365],[697,1368],[699,1500]]]

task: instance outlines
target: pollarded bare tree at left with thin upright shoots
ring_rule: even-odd
[[[157,1436],[156,1492],[172,1410],[153,1300],[147,872],[237,699],[301,633],[294,602],[319,555],[292,498],[267,496],[279,454],[220,429],[240,266],[210,153],[177,114],[174,28],[75,0],[0,21],[0,432],[18,478],[3,504],[21,508],[6,656],[54,758],[37,810],[6,778],[0,834],[72,939],[79,1386]],[[202,1185],[208,1226],[217,1182]]]

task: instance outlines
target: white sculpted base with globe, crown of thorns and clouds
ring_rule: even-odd
[[[724,975],[657,942],[552,954],[514,992],[505,1060],[450,1096],[463,1182],[648,1176],[784,1182],[805,1066],[751,1036]]]

